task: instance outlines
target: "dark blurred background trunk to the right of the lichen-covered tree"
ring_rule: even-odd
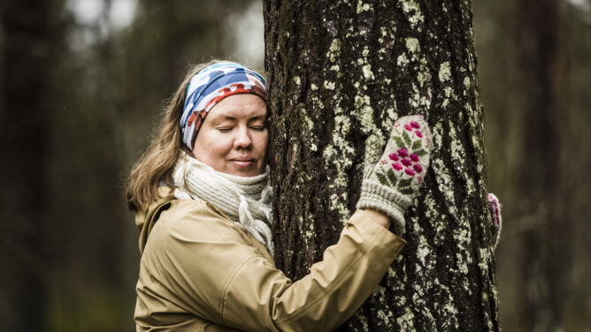
[[[521,116],[524,132],[518,192],[522,215],[533,215],[523,241],[523,278],[520,291],[523,326],[527,331],[564,328],[572,262],[572,221],[564,211],[560,190],[561,155],[558,111],[560,80],[560,7],[556,0],[519,0],[516,3],[517,54],[523,87]]]

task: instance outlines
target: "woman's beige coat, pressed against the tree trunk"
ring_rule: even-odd
[[[364,211],[292,283],[264,245],[218,208],[165,196],[136,215],[138,331],[330,331],[380,282],[405,244]]]

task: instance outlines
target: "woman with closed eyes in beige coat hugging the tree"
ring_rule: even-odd
[[[431,132],[418,116],[395,123],[357,211],[310,274],[292,283],[275,268],[265,91],[240,64],[196,66],[134,167],[138,331],[333,330],[405,244],[388,228],[403,229],[428,167]]]

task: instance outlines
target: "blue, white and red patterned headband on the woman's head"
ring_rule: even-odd
[[[190,80],[180,117],[182,141],[193,150],[197,132],[209,111],[232,94],[257,94],[265,99],[266,82],[241,64],[223,62],[205,67]]]

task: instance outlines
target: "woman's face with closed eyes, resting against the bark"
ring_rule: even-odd
[[[265,101],[234,94],[216,104],[201,125],[193,155],[214,170],[238,177],[265,171],[269,132]]]

